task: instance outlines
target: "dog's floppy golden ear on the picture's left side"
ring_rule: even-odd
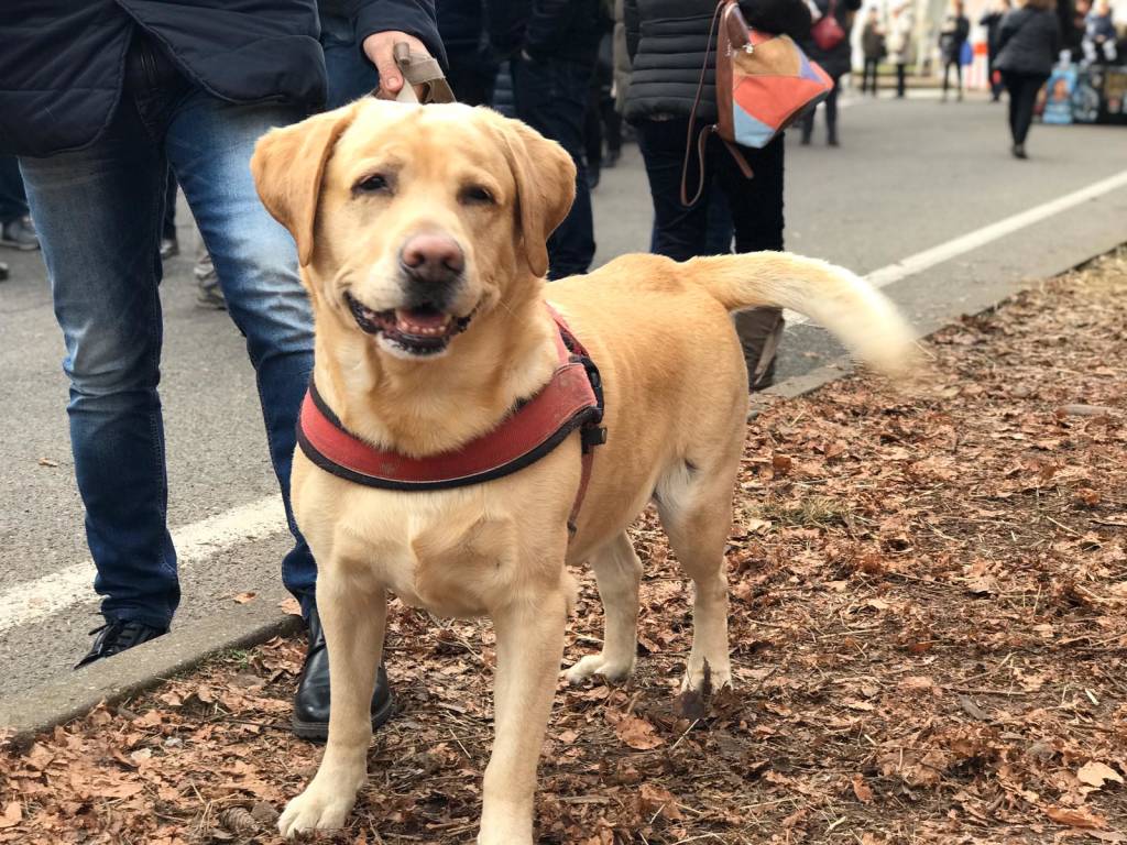
[[[270,130],[255,145],[250,172],[258,197],[273,217],[290,230],[302,266],[313,257],[313,225],[325,166],[337,139],[356,115],[355,103]]]

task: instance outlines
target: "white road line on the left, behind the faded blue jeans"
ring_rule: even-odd
[[[172,541],[183,571],[224,549],[261,540],[285,527],[282,497],[275,493],[177,528]],[[96,598],[94,571],[94,563],[83,561],[0,594],[0,633]]]

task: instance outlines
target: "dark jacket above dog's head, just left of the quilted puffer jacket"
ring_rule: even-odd
[[[502,55],[524,51],[594,65],[604,17],[600,0],[496,0],[489,37]]]

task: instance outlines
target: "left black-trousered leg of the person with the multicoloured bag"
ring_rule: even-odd
[[[693,127],[693,144],[701,125]],[[654,231],[650,251],[675,261],[703,255],[711,174],[704,174],[704,193],[690,206],[681,203],[681,171],[685,157],[689,119],[640,121],[637,125],[638,149],[641,150],[654,201]],[[727,151],[724,153],[727,155]],[[696,157],[689,161],[689,194],[696,193],[700,179]],[[740,177],[743,179],[743,177]]]

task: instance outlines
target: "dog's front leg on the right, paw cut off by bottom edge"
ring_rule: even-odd
[[[531,845],[536,763],[564,659],[567,598],[559,589],[494,614],[497,632],[492,756],[478,845]]]

